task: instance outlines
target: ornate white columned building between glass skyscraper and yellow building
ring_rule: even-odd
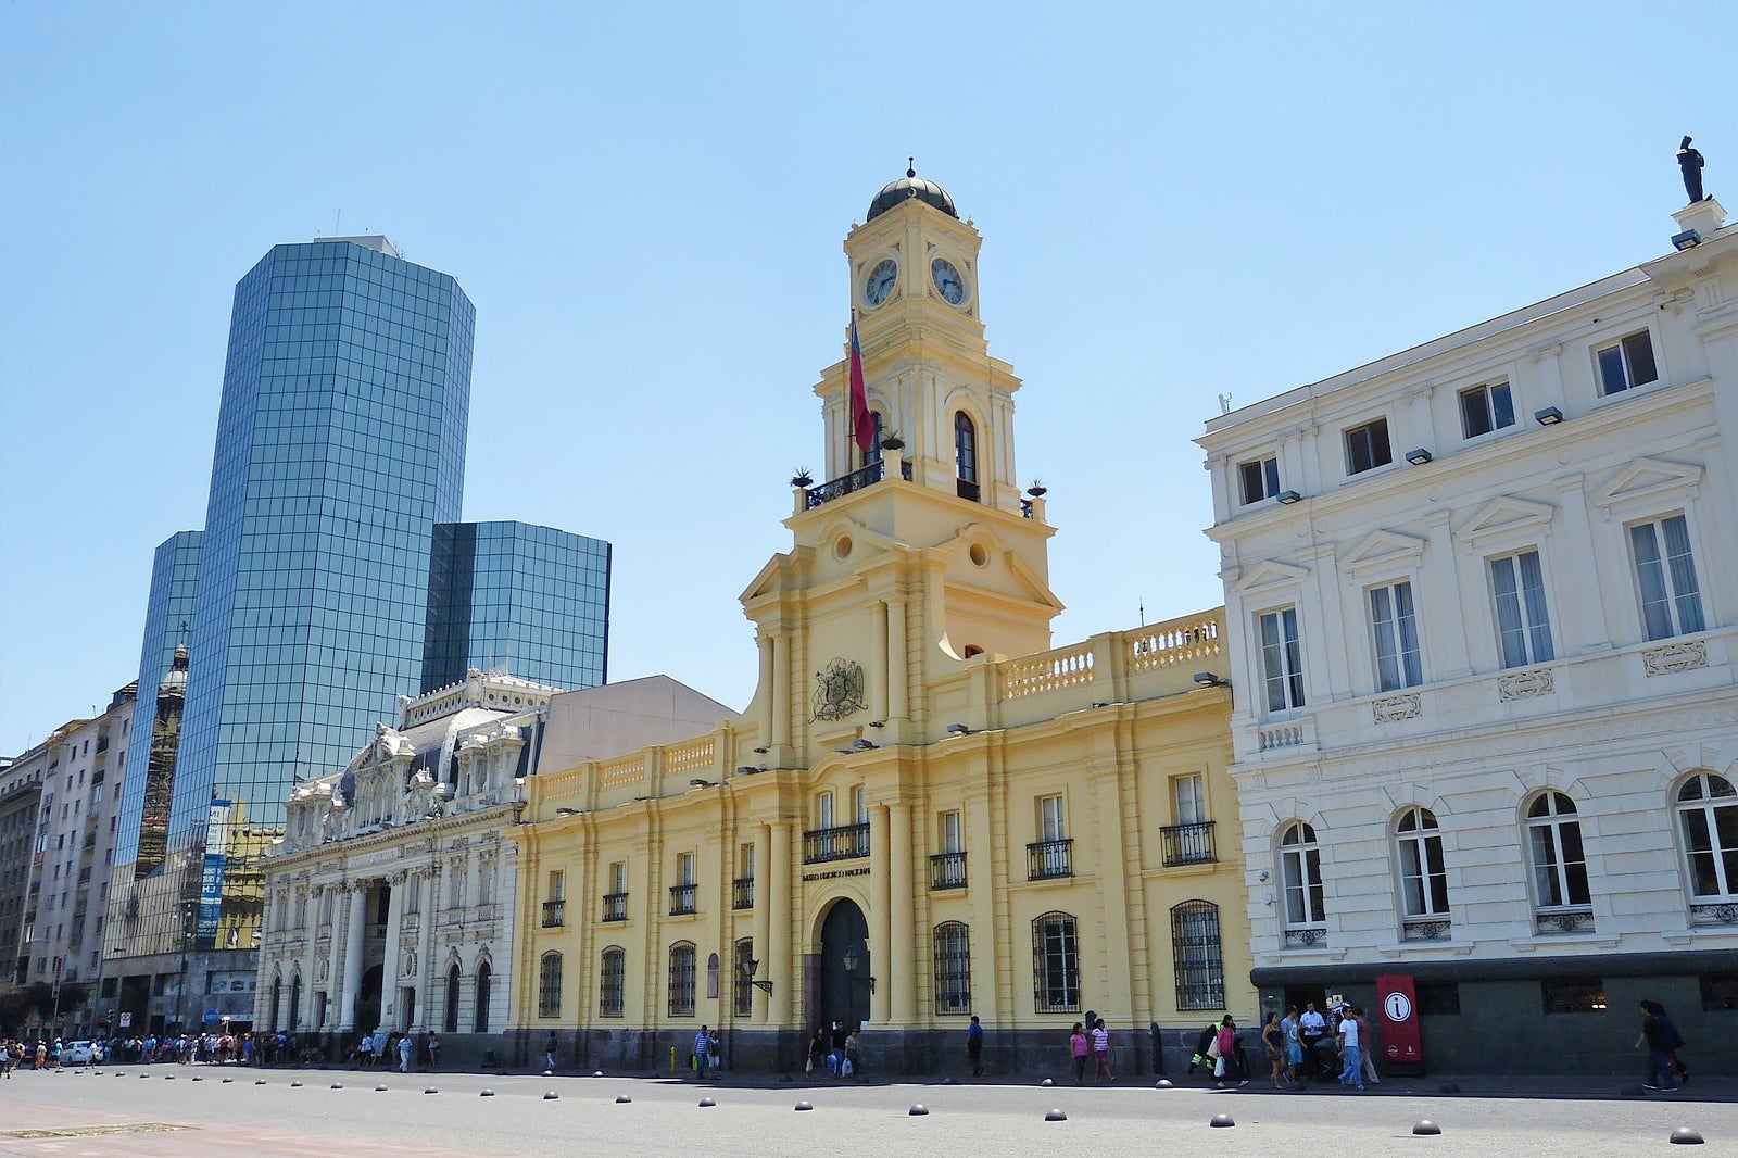
[[[254,1028],[342,1050],[440,1033],[485,1062],[511,1024],[525,777],[732,718],[667,678],[561,692],[495,671],[415,699],[341,770],[295,786],[266,857]]]

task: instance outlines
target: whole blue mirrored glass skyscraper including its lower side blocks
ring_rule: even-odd
[[[143,701],[186,642],[167,850],[139,861],[162,821],[129,782],[115,892],[141,888],[116,918],[209,911],[207,826],[282,828],[292,782],[348,763],[400,694],[468,666],[607,678],[610,546],[457,522],[473,322],[452,276],[384,236],[276,245],[236,285],[205,530],[158,549],[141,659]]]

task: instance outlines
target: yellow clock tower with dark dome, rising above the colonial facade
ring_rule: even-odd
[[[1050,647],[1055,532],[1017,482],[1020,381],[984,337],[980,247],[912,169],[845,238],[876,442],[852,438],[846,329],[815,386],[826,482],[798,489],[791,551],[742,593],[760,643],[747,715],[772,767],[945,737],[961,708],[939,683]]]

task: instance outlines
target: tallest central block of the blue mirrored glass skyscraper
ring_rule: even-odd
[[[278,245],[235,290],[169,843],[214,798],[276,828],[422,678],[459,518],[471,301],[386,238]]]

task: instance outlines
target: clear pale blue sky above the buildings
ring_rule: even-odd
[[[386,233],[476,303],[466,518],[615,542],[610,669],[753,694],[841,240],[916,155],[984,233],[1057,643],[1220,600],[1191,438],[1738,209],[1731,9],[0,9],[0,753],[137,676],[235,282]],[[358,744],[367,737],[358,737]]]

